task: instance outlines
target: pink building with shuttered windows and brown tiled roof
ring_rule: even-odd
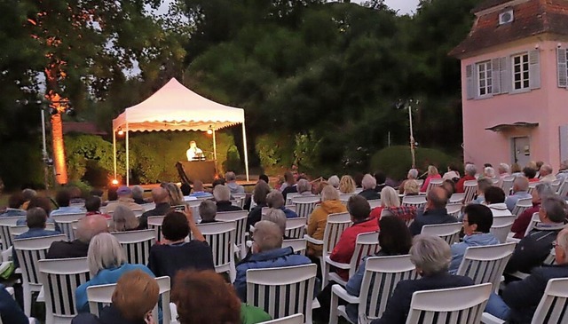
[[[568,0],[487,0],[461,59],[463,156],[485,162],[568,160]]]

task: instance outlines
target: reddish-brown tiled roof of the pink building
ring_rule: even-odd
[[[480,12],[508,2],[488,0],[474,11]],[[514,20],[508,24],[499,25],[502,11],[477,17],[469,35],[449,55],[467,56],[498,44],[545,33],[568,36],[568,0],[530,0],[509,9],[513,9]]]

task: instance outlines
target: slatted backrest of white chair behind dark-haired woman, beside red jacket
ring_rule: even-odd
[[[359,316],[378,319],[398,281],[416,279],[416,266],[410,256],[368,257],[359,294]]]

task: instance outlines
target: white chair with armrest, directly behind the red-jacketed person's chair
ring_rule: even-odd
[[[351,322],[345,306],[338,305],[340,298],[350,304],[359,305],[359,323],[368,323],[370,320],[380,318],[398,281],[416,279],[417,276],[416,266],[408,255],[368,257],[359,297],[350,295],[340,285],[333,286],[329,323],[336,324],[338,316]]]

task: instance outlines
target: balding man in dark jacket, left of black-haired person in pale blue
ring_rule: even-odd
[[[428,202],[422,213],[418,213],[414,222],[409,226],[410,233],[418,235],[423,225],[457,223],[458,219],[448,215],[446,210],[447,192],[443,188],[435,187],[428,192]]]

